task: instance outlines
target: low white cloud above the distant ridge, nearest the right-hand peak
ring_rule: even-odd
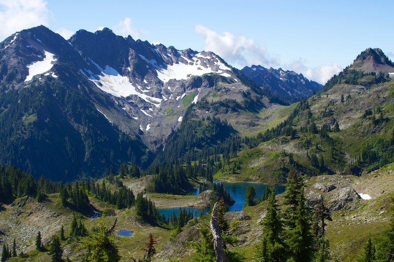
[[[343,70],[343,67],[337,63],[322,64],[317,67],[307,67],[305,61],[299,59],[289,65],[284,66],[288,70],[293,70],[296,73],[301,73],[309,80],[316,81],[320,84],[326,84],[327,80],[333,75],[338,74]]]

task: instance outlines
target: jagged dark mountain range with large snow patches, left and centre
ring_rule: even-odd
[[[198,101],[216,105],[200,116],[256,132],[265,121],[257,112],[321,87],[287,72],[295,84],[284,84],[292,87],[283,95],[276,82],[254,82],[212,52],[152,45],[107,28],[79,30],[67,41],[39,26],[0,47],[0,162],[64,180],[123,162],[147,167]]]

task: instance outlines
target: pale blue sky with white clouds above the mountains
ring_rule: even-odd
[[[366,48],[394,60],[394,1],[0,0],[0,41],[44,25],[68,39],[104,27],[239,69],[281,67],[325,84]]]

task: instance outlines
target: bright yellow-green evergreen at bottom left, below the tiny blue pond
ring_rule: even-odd
[[[108,230],[105,226],[105,213],[97,219],[98,228],[93,232],[77,250],[86,249],[86,259],[97,262],[117,262],[120,260],[119,250],[115,244],[112,233],[116,226],[116,221]]]

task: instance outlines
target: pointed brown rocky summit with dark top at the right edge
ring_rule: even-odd
[[[379,48],[367,48],[354,60],[350,69],[370,72],[394,72],[394,63]]]

